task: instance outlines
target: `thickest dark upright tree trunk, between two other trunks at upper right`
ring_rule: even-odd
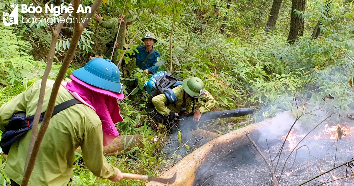
[[[290,32],[287,41],[293,44],[295,40],[304,34],[304,19],[302,15],[298,15],[294,10],[305,11],[306,0],[292,0],[291,16],[290,16]]]

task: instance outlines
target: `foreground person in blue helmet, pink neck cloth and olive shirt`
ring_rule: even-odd
[[[112,181],[122,178],[120,170],[105,160],[102,150],[119,136],[114,124],[123,120],[117,102],[124,98],[119,68],[108,59],[94,58],[85,67],[73,71],[70,77],[71,82],[62,82],[56,105],[70,100],[77,103],[52,116],[29,185],[70,185],[75,149],[79,146],[86,167],[94,175]],[[48,105],[53,83],[53,80],[47,80],[43,111]],[[7,131],[13,114],[25,112],[26,117],[35,114],[40,86],[41,81],[36,81],[0,107],[2,133]],[[4,172],[14,186],[22,182],[31,133],[32,129],[13,142],[8,151]]]

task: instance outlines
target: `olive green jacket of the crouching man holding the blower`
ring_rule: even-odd
[[[184,96],[182,85],[173,88],[172,91],[175,93],[177,97],[176,107],[173,104],[166,106],[167,98],[165,94],[160,94],[152,98],[152,102],[156,110],[162,115],[166,115],[166,116],[169,115],[170,110],[179,113],[179,109],[181,109],[182,107],[183,96]],[[209,94],[208,91],[205,91],[205,95],[204,97],[201,98],[201,100],[204,102],[202,103],[202,106],[198,108],[198,110],[201,113],[210,111],[210,109],[215,105],[215,99],[212,95]],[[186,104],[185,107],[187,109],[187,112],[188,113],[192,112],[192,106],[193,106],[192,98],[190,97],[186,98],[185,104]]]

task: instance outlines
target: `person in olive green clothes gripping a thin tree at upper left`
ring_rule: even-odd
[[[124,42],[123,42],[123,46],[127,47],[127,45],[129,44],[129,25],[131,25],[133,23],[133,21],[137,18],[136,16],[136,12],[133,12],[131,10],[129,10],[129,15],[127,17],[127,24],[125,27],[125,35],[124,35]],[[109,42],[106,44],[106,46],[108,47],[107,52],[105,53],[105,56],[110,58],[110,56],[112,55],[112,51],[113,51],[113,43],[115,42],[115,38],[117,36],[118,33],[118,28],[119,28],[119,24],[120,23],[124,23],[124,19],[122,18],[112,18],[109,20],[109,22],[105,22],[102,20],[102,16],[100,14],[96,14],[96,21],[99,23],[99,25],[103,28],[107,28],[110,29],[111,32],[111,38],[109,39]],[[115,47],[118,47],[118,44],[115,43]],[[118,56],[118,53],[115,51],[112,61],[116,61],[116,58]]]

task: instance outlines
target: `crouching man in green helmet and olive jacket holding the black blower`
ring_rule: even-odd
[[[201,114],[210,111],[215,105],[215,98],[204,89],[204,83],[201,79],[193,77],[183,80],[182,85],[172,89],[177,98],[174,104],[166,105],[167,97],[160,94],[152,98],[152,103],[156,110],[169,117],[169,122],[175,120],[177,113],[181,112],[181,108],[185,108],[185,114],[194,113],[193,120],[199,121]],[[202,105],[194,111],[194,102],[201,100]],[[193,105],[193,106],[192,106]]]

